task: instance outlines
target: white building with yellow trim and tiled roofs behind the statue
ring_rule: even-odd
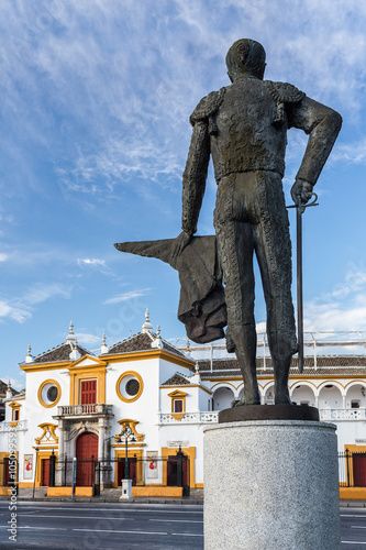
[[[101,463],[101,486],[118,486],[120,459],[125,458],[120,435],[129,427],[136,485],[169,485],[169,460],[181,447],[189,457],[189,485],[201,487],[203,428],[243,394],[233,355],[225,355],[220,345],[174,346],[159,328],[153,331],[148,312],[141,332],[111,348],[103,337],[99,353],[79,345],[70,324],[65,342],[35,358],[29,349],[20,369],[25,391],[14,394],[8,388],[5,419],[0,422],[0,485],[7,484],[7,435],[15,430],[20,487],[32,487],[34,481],[35,486],[48,485],[51,454],[58,459],[58,486],[65,458],[74,457],[92,457]],[[269,358],[258,358],[257,373],[262,403],[269,406]],[[366,451],[365,355],[312,354],[302,374],[295,358],[289,386],[293,402],[318,407],[322,420],[336,424],[340,451]],[[157,458],[165,460],[155,463]],[[154,472],[148,470],[152,462]],[[78,482],[87,484],[82,476]]]

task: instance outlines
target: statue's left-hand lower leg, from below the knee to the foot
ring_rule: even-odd
[[[244,396],[236,404],[260,405],[256,373],[257,336],[253,324],[231,324],[230,334],[235,343],[235,353],[244,380]]]

